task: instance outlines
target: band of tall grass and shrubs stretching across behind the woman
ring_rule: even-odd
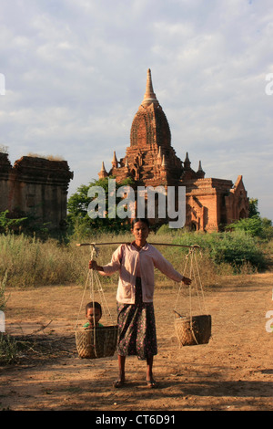
[[[129,233],[122,235],[100,234],[83,240],[87,243],[128,242]],[[161,229],[151,233],[149,241],[154,243],[173,243],[186,246],[199,245],[196,252],[198,265],[207,283],[222,274],[237,274],[246,267],[251,271],[266,267],[267,252],[272,253],[272,243],[267,248],[260,246],[255,237],[237,231],[234,233],[197,234],[179,230]],[[5,286],[27,288],[48,285],[85,284],[90,246],[76,246],[72,240],[59,244],[54,239],[45,242],[25,235],[0,235],[0,279],[5,278]],[[111,260],[118,245],[99,246],[98,262],[103,265]],[[158,246],[159,251],[177,268],[184,272],[188,249],[175,246]],[[116,275],[115,275],[116,276]],[[114,277],[104,277],[104,283],[115,282]],[[156,270],[156,279],[165,277]],[[3,281],[3,280],[2,280]],[[3,299],[3,297],[2,297]],[[1,302],[1,293],[0,293]]]

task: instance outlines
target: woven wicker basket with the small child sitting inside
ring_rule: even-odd
[[[117,328],[116,325],[103,326],[96,330],[76,330],[76,350],[79,358],[113,356],[116,351]]]

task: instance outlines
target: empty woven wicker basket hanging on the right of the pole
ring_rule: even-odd
[[[211,337],[211,316],[175,319],[175,329],[180,346],[207,344]]]

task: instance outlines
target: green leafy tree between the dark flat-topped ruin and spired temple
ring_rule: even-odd
[[[109,177],[114,179],[114,177]],[[131,179],[126,179],[122,183],[116,183],[116,191],[121,186],[132,186],[133,182]],[[87,210],[88,205],[97,197],[88,197],[88,190],[92,186],[100,186],[105,190],[106,193],[106,217],[101,218],[99,216],[96,219],[89,217]],[[116,197],[116,205],[121,201],[121,198]],[[67,223],[69,227],[69,233],[74,234],[77,237],[84,237],[86,235],[92,235],[94,232],[122,232],[130,229],[129,222],[127,219],[120,219],[118,216],[109,217],[109,204],[108,204],[108,178],[99,179],[89,183],[89,185],[82,184],[77,189],[76,194],[73,194],[67,202]],[[116,206],[115,206],[116,210]]]

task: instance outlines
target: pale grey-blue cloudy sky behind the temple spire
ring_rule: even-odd
[[[65,159],[75,193],[125,155],[151,68],[177,156],[273,219],[272,39],[272,0],[2,0],[0,145]]]

